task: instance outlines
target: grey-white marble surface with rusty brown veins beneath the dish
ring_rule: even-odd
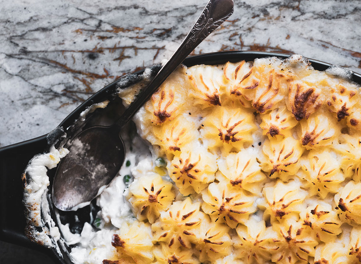
[[[0,147],[48,133],[104,85],[168,58],[206,0],[0,0]],[[361,72],[360,1],[235,0],[193,54],[298,53]],[[1,216],[4,217],[4,216]],[[52,263],[0,243],[0,263]]]

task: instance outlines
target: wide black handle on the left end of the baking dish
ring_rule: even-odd
[[[25,236],[21,175],[29,160],[47,149],[47,135],[0,148],[0,240],[34,248]]]

